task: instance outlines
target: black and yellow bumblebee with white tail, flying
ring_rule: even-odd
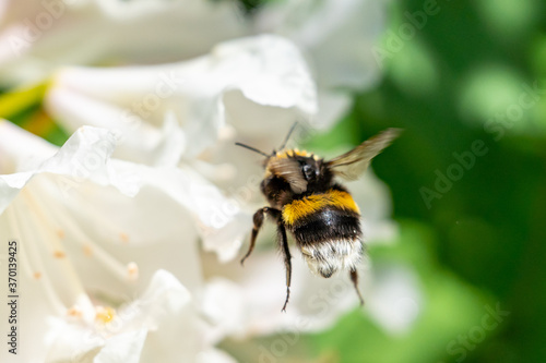
[[[236,143],[265,157],[265,176],[260,190],[269,203],[253,216],[250,246],[240,263],[242,265],[252,253],[258,232],[268,216],[277,225],[277,243],[286,268],[283,312],[290,297],[292,277],[287,230],[316,275],[329,278],[337,270],[348,270],[360,304],[364,304],[357,286],[357,266],[364,254],[360,210],[351,193],[336,179],[356,180],[401,130],[388,129],[351,152],[324,160],[297,148],[285,149],[295,126],[288,132],[280,152],[273,150],[271,155]]]

